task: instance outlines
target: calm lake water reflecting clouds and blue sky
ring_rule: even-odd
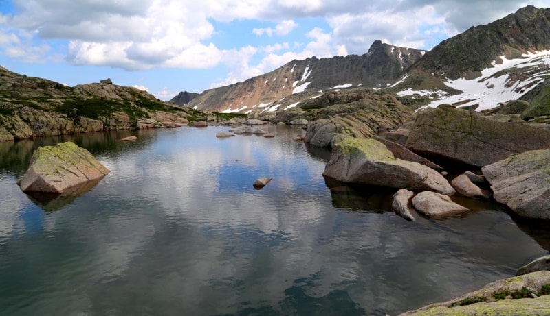
[[[326,182],[330,154],[294,141],[299,128],[215,137],[224,130],[0,142],[0,313],[396,315],[549,253],[547,228],[495,204],[408,222],[391,193]],[[78,197],[22,193],[34,148],[67,140],[111,173]]]

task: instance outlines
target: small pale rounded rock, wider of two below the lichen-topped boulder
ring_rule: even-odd
[[[412,198],[412,206],[418,212],[432,217],[441,217],[469,210],[460,204],[454,203],[447,195],[431,191],[418,193]]]

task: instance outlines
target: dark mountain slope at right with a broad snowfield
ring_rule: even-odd
[[[423,104],[494,108],[514,99],[548,99],[550,9],[529,5],[444,40],[393,85]],[[538,92],[537,92],[538,91]]]

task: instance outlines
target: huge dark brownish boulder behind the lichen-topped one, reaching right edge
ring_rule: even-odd
[[[483,167],[511,154],[550,147],[550,130],[528,123],[498,123],[445,105],[417,115],[406,147]]]

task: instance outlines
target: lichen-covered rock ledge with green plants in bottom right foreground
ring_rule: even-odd
[[[550,271],[505,278],[448,302],[399,316],[550,315]]]

